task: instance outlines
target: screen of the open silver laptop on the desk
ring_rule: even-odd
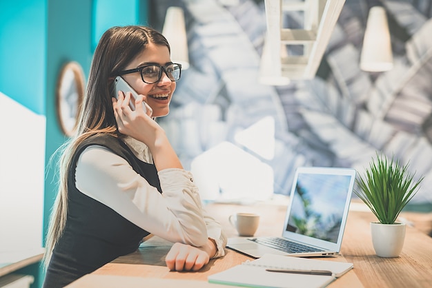
[[[337,243],[341,225],[348,213],[347,199],[351,200],[353,174],[329,170],[320,174],[306,169],[297,172],[291,192],[286,231]],[[328,172],[330,171],[330,172]]]

